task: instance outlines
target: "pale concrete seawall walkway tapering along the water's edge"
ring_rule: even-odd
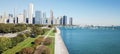
[[[55,51],[54,54],[69,54],[62,38],[60,30],[56,27],[57,33],[55,33]]]

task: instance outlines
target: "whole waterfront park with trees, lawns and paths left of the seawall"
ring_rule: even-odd
[[[55,33],[53,25],[1,23],[0,54],[54,54]]]

